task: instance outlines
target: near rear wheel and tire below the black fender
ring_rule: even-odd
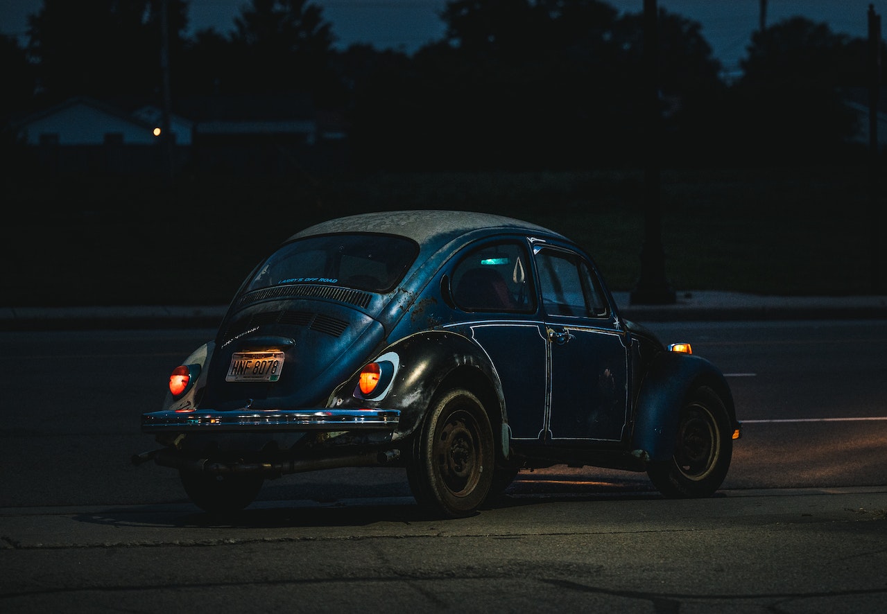
[[[483,504],[496,452],[481,401],[454,389],[436,398],[417,434],[406,475],[420,506],[443,517],[467,517]]]

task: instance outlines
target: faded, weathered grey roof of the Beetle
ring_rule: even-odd
[[[566,239],[538,224],[503,215],[472,211],[413,210],[378,211],[340,217],[303,229],[289,237],[289,240],[337,232],[378,232],[412,238],[419,245],[439,245],[442,241],[481,229],[545,233]]]

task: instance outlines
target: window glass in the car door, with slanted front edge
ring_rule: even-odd
[[[600,282],[576,254],[542,250],[536,256],[542,305],[550,315],[600,317],[607,303]]]

